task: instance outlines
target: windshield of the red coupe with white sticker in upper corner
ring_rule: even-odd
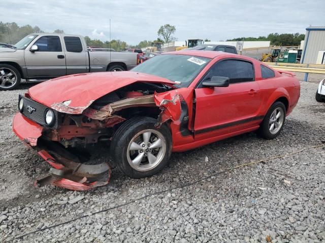
[[[165,77],[179,87],[188,87],[210,60],[205,57],[164,54],[148,59],[131,71]]]

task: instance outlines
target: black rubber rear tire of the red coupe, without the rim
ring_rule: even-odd
[[[270,132],[270,119],[271,119],[271,115],[272,113],[276,110],[276,109],[282,109],[282,112],[283,112],[283,120],[282,120],[282,123],[281,123],[281,127],[280,129],[272,134]],[[269,109],[268,113],[265,115],[262,123],[261,123],[261,126],[259,127],[258,129],[258,133],[260,136],[262,136],[263,138],[265,139],[274,139],[276,138],[282,131],[282,128],[284,126],[284,123],[285,123],[285,114],[286,114],[286,109],[285,109],[285,106],[282,102],[275,102]]]

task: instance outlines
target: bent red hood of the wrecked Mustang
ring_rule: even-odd
[[[59,112],[78,114],[102,96],[136,82],[175,85],[169,79],[146,73],[94,72],[50,79],[28,92],[33,100]]]

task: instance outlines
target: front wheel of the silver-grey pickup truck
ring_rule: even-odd
[[[20,73],[17,68],[0,64],[0,90],[13,90],[20,84]]]

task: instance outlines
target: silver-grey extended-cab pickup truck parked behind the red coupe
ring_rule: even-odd
[[[80,35],[29,34],[15,47],[0,49],[0,90],[14,89],[21,78],[28,82],[75,73],[125,71],[139,63],[135,53],[89,52]]]

